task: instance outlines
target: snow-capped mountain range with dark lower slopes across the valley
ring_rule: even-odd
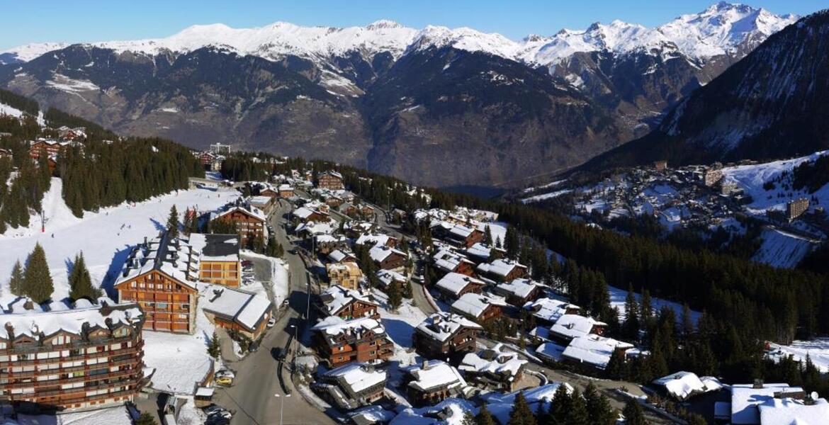
[[[120,133],[486,185],[571,167],[647,133],[793,19],[718,3],[657,28],[613,21],[520,41],[390,21],[202,25],[11,49],[0,53],[0,86]],[[468,152],[487,163],[453,160]]]

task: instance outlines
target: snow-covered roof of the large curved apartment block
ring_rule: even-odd
[[[41,309],[25,312],[7,312],[0,314],[0,321],[5,326],[12,326],[13,334],[17,336],[29,336],[38,338],[51,336],[59,331],[64,331],[80,336],[83,333],[84,325],[89,324],[90,328],[108,329],[107,322],[114,326],[120,324],[133,326],[140,323],[143,313],[135,302],[124,302],[122,304],[90,304],[85,307],[43,312]],[[2,337],[7,333],[2,332]]]

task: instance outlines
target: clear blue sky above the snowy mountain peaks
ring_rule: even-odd
[[[0,50],[42,41],[109,41],[169,36],[194,24],[261,27],[277,21],[349,27],[392,19],[408,27],[473,27],[512,39],[621,19],[654,27],[713,1],[697,0],[39,0],[3,1]],[[775,13],[815,12],[826,0],[747,0]]]

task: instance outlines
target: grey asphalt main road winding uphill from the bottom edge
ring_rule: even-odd
[[[235,411],[232,425],[245,424],[276,424],[280,419],[280,408],[284,403],[283,422],[286,424],[333,424],[332,418],[322,413],[318,408],[307,403],[293,387],[290,380],[288,362],[292,355],[287,355],[284,365],[284,380],[279,379],[279,362],[274,359],[272,350],[286,350],[288,345],[293,348],[295,328],[299,329],[300,339],[304,320],[302,316],[308,306],[308,277],[305,265],[298,255],[290,254],[291,244],[286,238],[281,225],[281,215],[288,210],[288,206],[280,204],[274,209],[274,232],[277,242],[286,249],[284,259],[288,262],[290,272],[290,294],[288,307],[279,317],[279,320],[262,339],[259,350],[251,353],[243,360],[230,363],[230,369],[235,370],[234,386],[220,389],[216,392],[216,403]],[[257,278],[260,278],[257,276]],[[287,389],[290,397],[285,398]],[[275,394],[279,394],[280,398]]]

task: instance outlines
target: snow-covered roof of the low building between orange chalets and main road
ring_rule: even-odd
[[[249,331],[256,329],[271,307],[270,300],[261,294],[221,285],[206,285],[200,296],[205,312],[224,316]]]

